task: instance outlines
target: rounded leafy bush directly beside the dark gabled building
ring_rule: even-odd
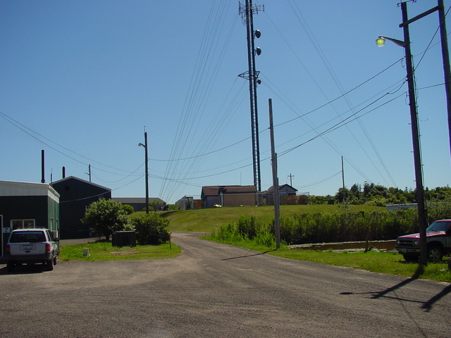
[[[124,230],[128,225],[128,215],[122,204],[111,199],[99,199],[87,209],[82,223],[95,232],[104,234],[107,240],[113,232]]]

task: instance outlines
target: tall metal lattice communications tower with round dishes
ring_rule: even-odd
[[[239,12],[243,23],[247,28],[247,61],[249,70],[238,75],[245,80],[249,80],[249,101],[251,110],[252,129],[252,164],[254,169],[254,186],[261,192],[260,177],[260,146],[259,146],[259,116],[257,111],[257,83],[260,83],[259,72],[255,70],[255,54],[260,55],[261,49],[255,48],[254,38],[261,36],[259,30],[254,31],[254,13],[264,11],[263,6],[252,5],[252,0],[246,0],[246,4],[239,2]]]

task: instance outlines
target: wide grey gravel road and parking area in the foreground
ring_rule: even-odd
[[[451,285],[173,233],[178,258],[0,265],[0,337],[451,337]]]

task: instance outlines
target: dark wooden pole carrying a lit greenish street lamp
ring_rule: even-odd
[[[407,23],[407,3],[401,3],[402,22]],[[412,53],[410,51],[410,35],[409,25],[401,24],[404,31],[404,41],[392,39],[390,37],[378,37],[376,39],[377,46],[383,46],[385,40],[391,41],[398,46],[404,47],[406,57],[407,84],[409,87],[409,106],[410,119],[412,126],[412,144],[414,148],[414,167],[415,167],[415,184],[416,184],[416,203],[418,204],[418,223],[420,234],[420,265],[428,263],[427,244],[426,244],[426,207],[424,204],[424,187],[423,187],[423,170],[421,168],[421,147],[418,126],[418,112],[416,111],[415,84],[414,84],[414,66],[412,63]],[[400,25],[400,26],[401,26]]]

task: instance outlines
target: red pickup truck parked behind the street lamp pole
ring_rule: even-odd
[[[451,253],[451,220],[436,220],[426,229],[428,260],[440,262],[443,255]],[[420,255],[420,234],[406,234],[397,237],[397,252],[406,261],[418,261]]]

